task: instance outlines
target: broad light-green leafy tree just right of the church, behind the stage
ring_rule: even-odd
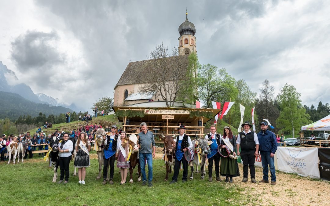
[[[198,97],[208,108],[212,108],[212,101],[233,101],[237,97],[235,79],[225,68],[218,70],[211,64],[203,65],[198,72]]]

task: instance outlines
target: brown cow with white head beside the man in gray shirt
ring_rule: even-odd
[[[141,182],[141,167],[140,167],[140,160],[138,159],[139,148],[137,142],[138,142],[137,136],[135,134],[131,134],[129,136],[129,145],[132,147],[132,154],[131,157],[129,158],[129,174],[130,174],[129,183],[133,183],[133,169],[135,168],[136,165],[138,165],[138,172],[139,172],[138,182]]]

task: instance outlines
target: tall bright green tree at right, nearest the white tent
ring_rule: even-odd
[[[300,131],[301,126],[310,124],[310,115],[306,114],[305,108],[301,104],[301,94],[297,92],[293,85],[286,83],[280,90],[277,100],[280,104],[280,117],[277,119],[277,126],[281,132],[292,132],[293,137],[296,131]]]

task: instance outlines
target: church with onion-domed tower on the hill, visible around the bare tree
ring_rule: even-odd
[[[197,53],[195,33],[195,25],[188,21],[188,13],[186,13],[185,21],[179,26],[180,37],[178,39],[178,50],[182,58],[187,59],[189,54]],[[143,83],[139,82],[137,76],[142,73],[142,70],[146,68],[146,65],[148,65],[150,61],[152,61],[152,59],[130,62],[127,65],[114,88],[114,106],[166,107],[160,94],[144,94],[139,89],[143,86]],[[187,66],[188,64],[185,65],[185,67]],[[182,103],[174,102],[174,106],[181,107]],[[193,104],[188,104],[187,106],[195,107]]]

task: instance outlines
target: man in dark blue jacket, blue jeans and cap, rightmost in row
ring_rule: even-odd
[[[271,185],[276,185],[274,155],[277,150],[277,140],[273,132],[268,130],[267,122],[261,122],[261,131],[257,134],[259,140],[259,151],[262,163],[263,179],[259,182],[269,183],[268,181],[268,165],[271,175]]]

